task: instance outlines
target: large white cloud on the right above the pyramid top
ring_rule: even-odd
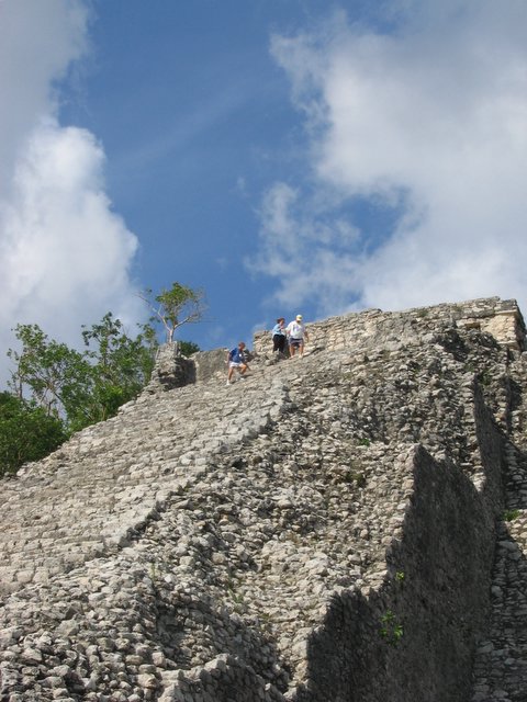
[[[280,276],[279,301],[319,299],[318,313],[496,294],[527,312],[527,5],[391,9],[389,33],[337,13],[317,34],[273,37],[305,114],[310,186],[332,199],[324,212],[318,195],[315,210],[305,184],[288,186],[284,217],[283,185],[272,186],[257,268]],[[337,196],[393,207],[395,225],[365,229],[347,249],[327,236],[307,246],[303,231],[318,231],[321,213],[332,228]],[[299,241],[304,285],[291,291],[281,259]]]

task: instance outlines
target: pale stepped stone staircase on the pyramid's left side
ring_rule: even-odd
[[[247,380],[243,393],[217,383],[145,394],[4,480],[0,591],[115,552],[214,453],[278,417],[284,393],[277,380],[253,387]]]

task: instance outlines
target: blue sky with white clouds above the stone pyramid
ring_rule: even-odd
[[[173,281],[203,349],[527,310],[525,0],[0,0],[0,369],[16,322],[132,332]]]

